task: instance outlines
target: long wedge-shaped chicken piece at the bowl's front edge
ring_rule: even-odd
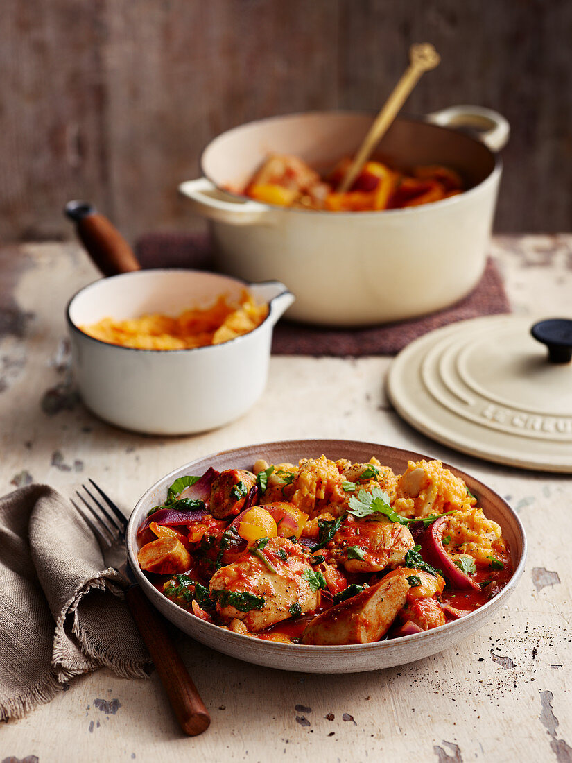
[[[403,577],[383,578],[311,620],[302,643],[368,644],[381,639],[403,608],[409,584]]]

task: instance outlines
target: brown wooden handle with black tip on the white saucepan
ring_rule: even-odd
[[[69,201],[64,213],[76,224],[76,231],[88,255],[103,275],[140,270],[133,250],[107,217],[87,201]]]

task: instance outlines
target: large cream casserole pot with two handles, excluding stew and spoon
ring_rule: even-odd
[[[378,148],[396,166],[457,169],[468,184],[461,195],[374,212],[281,208],[240,197],[268,153],[298,156],[326,172],[355,153],[373,118],[317,111],[235,127],[204,150],[204,177],[179,186],[210,221],[218,269],[284,282],[296,297],[289,318],[331,326],[403,320],[463,298],[484,271],[501,175],[495,152],[509,136],[506,120],[490,109],[398,118]],[[454,127],[471,127],[480,139]]]

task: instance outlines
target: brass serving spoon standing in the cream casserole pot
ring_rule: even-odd
[[[338,192],[343,193],[348,188],[351,188],[352,183],[371,156],[371,152],[378,145],[381,138],[384,137],[397,114],[399,114],[400,108],[409,98],[411,91],[417,82],[419,82],[423,72],[435,69],[435,66],[439,65],[441,56],[439,56],[439,53],[437,53],[431,43],[416,43],[410,47],[409,60],[409,66],[403,72],[403,76],[401,76],[400,81],[395,85],[387,101],[385,101],[384,107],[375,118],[374,124],[369,128],[368,134],[359,147],[358,153],[355,154],[348,172],[338,186]]]

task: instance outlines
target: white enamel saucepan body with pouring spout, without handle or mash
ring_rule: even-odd
[[[79,330],[109,315],[117,320],[155,312],[178,315],[188,307],[208,307],[220,295],[236,298],[245,287],[257,302],[268,302],[268,317],[255,330],[223,344],[133,349]],[[188,434],[229,423],[262,394],[272,328],[293,301],[276,281],[246,284],[193,270],[142,270],[92,283],[67,309],[83,401],[101,419],[148,434]]]

